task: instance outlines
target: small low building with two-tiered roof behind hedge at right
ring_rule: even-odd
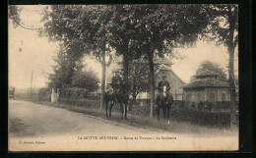
[[[183,100],[229,101],[228,83],[219,79],[219,75],[211,71],[203,71],[194,76],[194,80],[183,86]]]

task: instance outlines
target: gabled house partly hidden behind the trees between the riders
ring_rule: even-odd
[[[121,61],[121,57],[113,57],[111,68],[107,69],[107,82],[110,82],[110,79],[112,77],[112,71],[122,69]],[[158,86],[161,77],[165,75],[166,79],[171,85],[171,92],[173,94],[174,100],[182,100],[182,87],[185,85],[185,83],[172,71],[171,65],[173,65],[173,63],[165,57],[160,58],[156,55],[156,57],[154,58],[154,64],[155,68],[157,69],[155,74],[155,87]],[[157,92],[158,90],[156,88],[156,94]],[[148,92],[141,92],[137,95],[137,99],[150,99],[150,94]]]

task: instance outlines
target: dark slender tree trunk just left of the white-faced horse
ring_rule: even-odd
[[[154,106],[155,106],[155,77],[154,77],[154,63],[153,63],[153,51],[148,52],[148,60],[150,65],[150,86],[151,86],[151,115],[154,117]]]

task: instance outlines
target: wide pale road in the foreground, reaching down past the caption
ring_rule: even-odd
[[[11,151],[237,150],[238,133],[184,134],[133,127],[27,101],[9,102]]]

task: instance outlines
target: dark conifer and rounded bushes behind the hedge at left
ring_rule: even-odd
[[[53,68],[53,74],[49,75],[48,86],[51,88],[61,88],[64,86],[86,88],[93,92],[98,88],[99,80],[96,73],[86,71],[82,59],[76,59],[72,53],[67,53],[60,48],[57,57],[54,59],[57,65]]]

